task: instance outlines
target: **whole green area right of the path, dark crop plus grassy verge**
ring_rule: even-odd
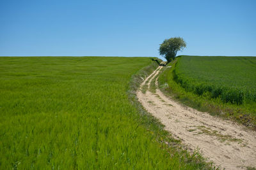
[[[209,105],[231,109],[227,116],[245,116],[244,121],[253,120],[255,124],[256,57],[180,56],[172,65],[165,73],[166,81],[184,100],[190,97],[199,108]]]

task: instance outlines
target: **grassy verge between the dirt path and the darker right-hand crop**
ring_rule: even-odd
[[[170,62],[168,66],[163,69],[159,74],[159,89],[168,97],[172,97],[179,103],[195,108],[198,111],[209,112],[213,116],[218,116],[224,119],[232,120],[245,127],[256,131],[256,118],[251,117],[246,113],[241,113],[238,106],[234,104],[218,103],[214,100],[208,100],[204,97],[197,96],[193,92],[186,92],[175,80],[173,71],[175,71],[175,65],[179,62],[179,57],[173,62]]]

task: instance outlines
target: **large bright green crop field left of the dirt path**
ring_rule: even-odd
[[[1,57],[0,169],[204,168],[161,142],[163,128],[129,99],[132,75],[150,64],[147,57]]]

